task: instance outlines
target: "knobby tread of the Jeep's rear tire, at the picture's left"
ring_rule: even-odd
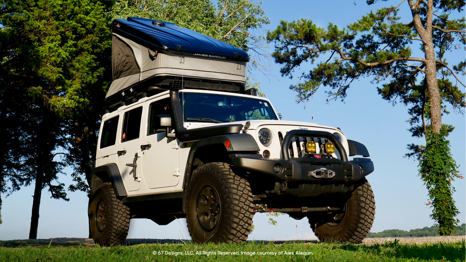
[[[105,226],[105,229],[109,227],[110,230],[104,231],[104,235],[101,240],[96,241],[96,239],[94,239],[94,241],[102,246],[123,244],[130,229],[130,209],[123,205],[121,200],[117,199],[111,183],[103,183],[99,185],[94,196],[98,196],[100,191],[103,191],[110,200],[109,203],[106,203],[109,215],[106,216],[107,224]],[[94,197],[90,207],[95,208],[96,204],[94,204],[94,201],[98,200],[100,199]]]

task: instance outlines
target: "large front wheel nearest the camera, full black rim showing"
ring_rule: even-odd
[[[186,192],[186,222],[196,243],[246,241],[253,223],[249,182],[225,163],[196,169]]]

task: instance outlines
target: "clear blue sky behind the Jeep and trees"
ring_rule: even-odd
[[[348,25],[359,19],[363,14],[377,7],[394,5],[401,0],[381,2],[374,6],[367,6],[365,0],[328,0],[328,1],[278,1],[264,0],[262,3],[271,24],[265,29],[274,29],[280,20],[292,21],[300,18],[312,19],[318,26],[325,27],[333,22],[339,27]],[[403,3],[399,15],[409,18],[407,3]],[[418,46],[413,46],[416,55]],[[270,49],[270,52],[273,50]],[[447,56],[451,65],[465,58],[463,49],[454,50]],[[266,77],[256,74],[261,84],[262,92],[267,95],[275,109],[280,112],[284,120],[312,122],[340,127],[347,138],[359,141],[367,146],[370,158],[374,161],[375,171],[367,178],[372,185],[376,199],[376,218],[372,232],[385,229],[422,228],[432,226],[434,221],[429,218],[432,210],[427,208],[427,190],[417,176],[418,162],[404,158],[406,145],[425,144],[423,138],[412,138],[407,131],[410,127],[405,121],[409,118],[407,108],[400,103],[393,106],[377,94],[377,84],[370,83],[370,79],[360,79],[352,83],[348,90],[348,97],[344,103],[340,101],[326,102],[325,88],[322,87],[313,98],[313,102],[297,104],[295,93],[288,89],[290,84],[297,83],[297,79],[290,80],[281,77],[278,66],[274,73],[277,77]],[[301,68],[310,69],[309,65]],[[300,70],[297,70],[297,75]],[[463,83],[466,77],[459,76]],[[463,92],[465,88],[460,87]],[[452,110],[450,110],[452,111]],[[452,143],[453,157],[460,166],[461,173],[466,174],[466,118],[462,114],[452,111],[444,115],[443,122],[453,124],[456,129],[448,139]],[[67,169],[68,173],[71,170]],[[72,183],[71,178],[63,176],[61,181],[67,186]],[[460,223],[466,223],[466,179],[452,182],[457,192],[454,198],[461,214]],[[25,239],[29,233],[32,197],[34,187],[24,187],[19,192],[5,198],[2,194],[3,207],[0,225],[0,239]],[[85,193],[69,192],[69,202],[50,199],[46,191],[42,193],[41,212],[39,219],[38,238],[50,237],[87,237],[87,196]],[[309,239],[314,235],[309,228],[307,219],[296,221],[287,215],[274,218],[277,226],[267,224],[268,217],[264,214],[254,216],[255,231],[249,239]],[[173,221],[167,226],[158,226],[145,219],[131,220],[130,238],[185,238],[189,236],[185,227],[185,219]]]

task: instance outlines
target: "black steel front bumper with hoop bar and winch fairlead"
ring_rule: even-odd
[[[288,147],[291,138],[297,136],[329,139],[335,144],[341,159],[290,158]],[[374,171],[374,163],[368,158],[348,160],[340,141],[333,134],[324,131],[289,131],[283,138],[281,155],[282,159],[266,159],[260,154],[231,154],[229,157],[235,168],[276,181],[271,193],[277,191],[299,195],[346,193],[351,190],[352,184]],[[275,165],[281,166],[280,172],[274,171]],[[295,185],[295,188],[287,188],[287,184]]]

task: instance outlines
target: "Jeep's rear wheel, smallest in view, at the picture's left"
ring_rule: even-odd
[[[89,205],[92,238],[102,246],[122,244],[130,229],[130,209],[117,199],[111,183],[97,187]]]

